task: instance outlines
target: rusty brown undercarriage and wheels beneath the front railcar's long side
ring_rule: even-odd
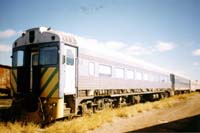
[[[105,108],[117,108],[140,102],[155,101],[172,95],[171,89],[167,91],[166,89],[79,91],[77,114],[92,114]]]

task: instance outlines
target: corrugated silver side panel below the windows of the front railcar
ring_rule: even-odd
[[[109,77],[79,77],[79,90],[170,88],[170,86],[170,83],[151,81],[123,80]]]

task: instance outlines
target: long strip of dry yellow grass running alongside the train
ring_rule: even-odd
[[[13,132],[13,133],[32,133],[32,132],[45,132],[45,133],[84,133],[89,130],[94,130],[104,123],[110,123],[115,118],[128,118],[134,117],[135,115],[142,113],[144,111],[149,111],[152,109],[163,109],[170,108],[176,105],[179,101],[186,100],[189,97],[196,95],[197,93],[191,94],[183,94],[178,95],[166,99],[162,99],[160,101],[155,102],[146,102],[137,104],[134,106],[128,106],[117,109],[105,109],[104,111],[95,113],[92,116],[84,116],[81,118],[73,119],[71,121],[62,121],[56,122],[55,124],[47,127],[44,130],[39,129],[39,126],[34,124],[28,124],[25,127],[22,127],[21,124],[8,123],[7,126],[5,124],[0,123],[0,133],[4,132]],[[199,94],[198,94],[199,95]]]

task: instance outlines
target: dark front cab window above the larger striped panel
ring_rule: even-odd
[[[40,65],[56,65],[58,63],[58,48],[44,47],[40,49]]]

